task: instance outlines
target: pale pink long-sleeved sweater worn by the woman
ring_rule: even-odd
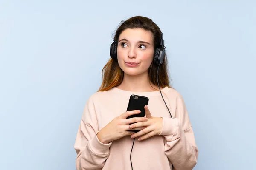
[[[99,142],[96,134],[127,109],[131,94],[147,96],[153,117],[163,117],[160,135],[143,141],[137,138],[132,150],[134,170],[192,170],[197,164],[198,148],[183,97],[173,88],[159,91],[131,92],[112,88],[96,92],[88,99],[76,137],[76,170],[131,170],[133,140],[125,136],[109,144]]]

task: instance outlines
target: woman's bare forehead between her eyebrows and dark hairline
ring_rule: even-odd
[[[152,34],[150,31],[145,31],[142,28],[127,28],[119,36],[119,40],[127,39],[130,42],[145,41],[152,42]]]

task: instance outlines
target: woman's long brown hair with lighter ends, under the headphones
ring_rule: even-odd
[[[113,38],[114,41],[118,42],[120,34],[122,33],[122,31],[124,31],[127,28],[131,28],[131,29],[142,28],[145,31],[150,31],[153,37],[154,51],[159,46],[160,40],[161,40],[161,30],[157,26],[157,24],[154,23],[150,18],[136,16],[121,22],[120,26],[117,28],[115,32],[115,36]],[[151,87],[152,87],[152,84],[158,86],[157,68],[158,68],[158,65],[152,62],[148,69],[148,75],[149,75],[149,80],[151,82],[150,83]],[[160,68],[158,70],[158,81],[159,81],[160,87],[162,88],[166,86],[168,86],[169,88],[172,88],[170,85],[171,78],[169,77],[168,72],[169,72],[168,61],[167,61],[167,56],[165,54],[163,64],[160,65]],[[107,91],[113,87],[118,86],[119,84],[121,84],[123,77],[124,77],[124,72],[119,67],[118,62],[110,58],[107,64],[102,69],[102,85],[100,86],[98,91]]]

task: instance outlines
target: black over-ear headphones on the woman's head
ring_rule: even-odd
[[[161,40],[160,40],[159,46],[160,47],[156,48],[155,54],[154,54],[154,63],[156,63],[157,65],[163,64],[163,59],[164,59],[165,53],[166,53],[162,32],[161,32]],[[116,41],[114,41],[110,45],[110,57],[117,61],[117,51],[116,51],[116,49],[117,49],[117,44],[116,44]]]

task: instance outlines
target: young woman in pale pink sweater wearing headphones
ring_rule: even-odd
[[[81,118],[76,170],[192,170],[197,164],[192,125],[183,97],[169,85],[164,48],[149,18],[132,17],[116,30],[102,85]],[[148,97],[145,117],[126,119],[140,113],[126,111],[132,94]]]

